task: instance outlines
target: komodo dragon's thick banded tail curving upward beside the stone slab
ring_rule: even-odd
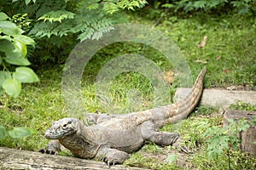
[[[203,91],[203,79],[206,72],[206,67],[201,70],[192,91],[185,99],[172,105],[152,109],[150,111],[151,120],[153,120],[159,126],[163,126],[167,123],[177,122],[189,116],[189,113],[195,109],[195,106],[201,99],[201,94]]]

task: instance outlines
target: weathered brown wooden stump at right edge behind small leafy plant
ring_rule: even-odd
[[[245,118],[248,122],[252,122],[253,117],[255,116],[256,111],[225,111],[224,126],[229,124],[228,119],[238,121]],[[256,141],[256,126],[249,127],[247,131],[242,131],[238,136],[241,138],[241,150],[256,156],[256,144],[253,144],[253,142]]]

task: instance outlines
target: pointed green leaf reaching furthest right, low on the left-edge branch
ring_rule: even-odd
[[[17,67],[15,69],[13,77],[19,80],[20,82],[26,82],[26,83],[39,81],[39,78],[36,75],[36,73],[28,67]]]

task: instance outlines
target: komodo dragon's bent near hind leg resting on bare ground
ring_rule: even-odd
[[[177,150],[190,153],[189,149],[183,145],[182,138],[178,133],[158,132],[153,122],[143,122],[142,134],[143,139],[149,140],[154,144],[159,144],[161,146],[172,145]]]

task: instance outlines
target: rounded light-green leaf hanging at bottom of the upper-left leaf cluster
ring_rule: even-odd
[[[3,82],[3,89],[7,94],[9,94],[11,97],[18,97],[21,91],[21,83],[19,80],[15,78],[9,78],[6,79]]]

